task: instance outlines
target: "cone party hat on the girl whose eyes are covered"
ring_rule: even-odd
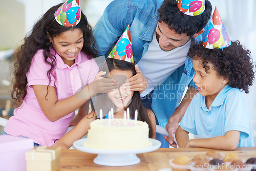
[[[133,48],[129,25],[126,27],[123,34],[118,39],[115,47],[112,49],[108,57],[133,63]]]

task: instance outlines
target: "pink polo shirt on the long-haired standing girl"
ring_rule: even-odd
[[[52,50],[51,53],[55,54],[55,51]],[[77,55],[71,67],[66,65],[58,54],[55,57],[57,63],[54,71],[55,78],[51,75],[50,86],[55,87],[58,100],[68,98],[81,87],[86,87],[98,73],[99,67],[95,60],[89,60],[83,52]],[[32,86],[49,84],[47,71],[50,66],[44,60],[43,50],[38,50],[26,74],[27,95],[22,105],[15,109],[14,116],[9,119],[5,132],[13,136],[29,137],[41,145],[53,146],[54,142],[66,133],[75,112],[55,122],[49,121],[42,113]]]

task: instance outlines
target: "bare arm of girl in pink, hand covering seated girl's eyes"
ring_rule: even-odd
[[[102,78],[104,74],[105,72],[99,72],[91,84],[66,99],[58,100],[53,86],[34,85],[33,90],[42,112],[54,122],[78,109],[95,94],[106,93],[119,87],[112,79]]]

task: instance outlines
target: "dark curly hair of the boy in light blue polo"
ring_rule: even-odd
[[[239,41],[232,41],[232,44],[223,49],[208,49],[202,46],[203,42],[191,45],[188,57],[202,60],[202,66],[208,73],[208,62],[212,63],[217,75],[228,80],[232,88],[238,88],[248,93],[249,86],[252,86],[254,79],[253,62],[250,58],[250,51],[245,49]]]

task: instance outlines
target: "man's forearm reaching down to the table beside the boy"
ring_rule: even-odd
[[[169,136],[164,136],[164,139],[171,145],[174,143],[174,135],[179,126],[179,123],[184,116],[188,105],[197,93],[197,89],[194,87],[189,87],[180,105],[175,110],[174,114],[169,118],[168,123],[166,124],[166,130]]]

